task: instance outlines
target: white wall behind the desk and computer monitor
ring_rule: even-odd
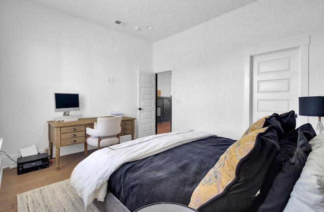
[[[123,111],[137,116],[137,70],[152,70],[151,43],[27,1],[0,1],[2,150],[48,147],[54,92],[80,95],[84,117]],[[114,83],[107,83],[107,77]],[[61,148],[61,155],[83,151]]]

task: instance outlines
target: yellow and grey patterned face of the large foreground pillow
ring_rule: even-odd
[[[259,133],[268,128],[254,130],[233,143],[219,158],[191,195],[189,207],[197,209],[213,197],[222,193],[233,182],[239,161],[254,148]]]

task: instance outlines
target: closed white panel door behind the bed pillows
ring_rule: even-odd
[[[300,49],[253,57],[252,122],[273,113],[298,114]]]

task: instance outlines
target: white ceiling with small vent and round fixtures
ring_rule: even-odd
[[[28,0],[155,42],[257,0]],[[116,24],[115,21],[121,21]],[[151,26],[152,29],[147,29]],[[135,30],[139,27],[140,30]]]

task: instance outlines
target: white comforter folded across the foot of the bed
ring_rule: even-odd
[[[90,154],[74,168],[70,177],[71,185],[83,198],[87,209],[95,198],[104,201],[110,175],[124,163],[212,135],[214,134],[186,130],[147,136],[102,148]]]

